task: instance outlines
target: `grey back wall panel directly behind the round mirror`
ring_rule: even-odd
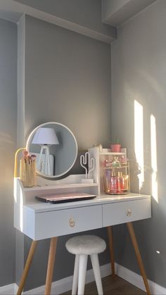
[[[79,149],[110,139],[110,46],[35,18],[25,19],[25,137],[56,121],[75,134]],[[106,231],[97,234],[106,239]],[[53,280],[72,275],[74,257],[60,237]],[[30,239],[25,237],[25,256]],[[49,241],[39,241],[26,289],[45,283]],[[108,252],[101,264],[108,262]],[[36,271],[40,270],[40,271]],[[34,275],[35,273],[35,275]]]

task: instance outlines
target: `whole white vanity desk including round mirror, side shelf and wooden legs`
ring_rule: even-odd
[[[50,132],[51,138],[49,137]],[[43,133],[45,135],[41,136]],[[55,136],[58,137],[58,144],[57,140],[56,142],[52,141]],[[51,149],[51,147],[54,148],[51,150],[51,154],[56,159],[53,175],[50,174],[49,163],[49,148]],[[65,175],[71,170],[77,158],[77,141],[68,127],[55,122],[44,123],[36,127],[27,139],[27,151],[32,155],[36,152],[39,153],[39,149],[41,151],[39,159],[37,159],[39,167],[37,172],[41,176],[37,177],[36,186],[30,188],[23,187],[23,183],[25,183],[25,186],[34,184],[34,182],[24,182],[26,177],[28,180],[34,180],[32,172],[29,175],[30,167],[27,164],[30,164],[30,160],[28,159],[27,153],[23,157],[23,161],[27,165],[23,173],[25,176],[25,178],[22,178],[23,182],[16,177],[17,169],[15,166],[14,226],[17,230],[32,239],[32,245],[27,256],[17,294],[21,294],[23,291],[37,241],[51,238],[45,288],[45,294],[49,295],[51,293],[58,237],[65,234],[84,232],[86,230],[95,230],[101,227],[107,227],[111,268],[112,274],[115,275],[112,226],[122,223],[127,223],[143,282],[146,286],[147,293],[150,294],[132,221],[151,218],[151,196],[139,194],[125,194],[121,196],[103,194],[103,163],[112,157],[114,164],[117,165],[119,163],[118,166],[114,165],[114,167],[121,169],[124,167],[124,163],[121,165],[121,162],[117,160],[119,156],[122,156],[125,157],[125,161],[127,162],[126,149],[121,149],[120,153],[112,153],[110,149],[102,149],[101,151],[96,146],[90,148],[89,153],[85,153],[84,156],[82,155],[80,157],[80,165],[87,172],[86,176],[70,175],[68,177],[65,177]],[[44,163],[41,161],[43,149],[47,151]],[[127,166],[125,165],[125,167]],[[44,174],[41,172],[43,168]],[[52,180],[50,175],[52,175]],[[126,170],[125,175],[129,177]],[[58,178],[61,179],[58,180]],[[89,179],[92,180],[91,183],[88,183]],[[89,193],[97,197],[89,201],[59,204],[42,203],[35,199],[35,196],[70,192]]]

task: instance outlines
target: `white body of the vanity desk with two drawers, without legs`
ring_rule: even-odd
[[[79,176],[79,175],[78,175]],[[81,175],[80,175],[81,177]],[[68,177],[70,179],[70,177]],[[44,179],[41,179],[44,182]],[[23,188],[17,179],[20,199],[15,203],[15,227],[33,240],[63,236],[109,225],[151,217],[151,197],[139,194],[113,196],[101,194],[95,199],[51,204],[37,201],[37,194],[75,190],[93,190],[96,184],[55,184]],[[48,180],[45,180],[46,184]],[[18,196],[18,194],[17,194]],[[23,204],[23,206],[21,205]],[[23,213],[23,214],[22,214]],[[72,220],[72,222],[71,222]]]

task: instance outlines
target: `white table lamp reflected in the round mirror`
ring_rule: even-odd
[[[50,157],[49,157],[49,147],[52,144],[59,144],[58,137],[56,136],[56,132],[53,128],[44,128],[41,127],[35,132],[34,137],[32,139],[32,144],[41,145],[41,150],[39,154],[39,165],[41,167],[42,154],[45,151],[45,165],[44,165],[44,173],[46,175],[51,175],[50,168]],[[41,171],[41,168],[40,168]]]

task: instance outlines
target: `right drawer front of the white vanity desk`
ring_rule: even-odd
[[[151,199],[103,205],[103,227],[145,218],[151,218]]]

